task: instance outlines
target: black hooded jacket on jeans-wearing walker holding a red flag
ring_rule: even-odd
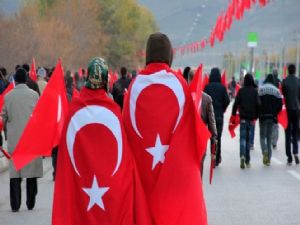
[[[254,120],[258,118],[260,100],[252,75],[246,75],[244,78],[244,87],[242,87],[233,104],[232,115],[236,115],[237,109],[241,119]]]

